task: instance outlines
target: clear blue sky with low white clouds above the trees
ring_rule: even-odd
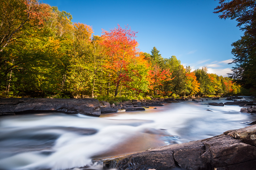
[[[231,44],[243,35],[237,22],[214,14],[214,0],[43,0],[70,12],[72,22],[90,25],[94,35],[119,24],[136,34],[140,51],[155,46],[164,58],[175,55],[183,66],[207,67],[208,73],[232,73]]]

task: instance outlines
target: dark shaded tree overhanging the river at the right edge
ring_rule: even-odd
[[[246,88],[256,88],[256,1],[219,0],[219,4],[214,13],[222,13],[221,19],[236,19],[237,26],[244,31],[244,36],[232,44],[235,67],[229,76]]]

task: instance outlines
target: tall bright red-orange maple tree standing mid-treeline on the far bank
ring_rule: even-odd
[[[104,39],[102,44],[106,47],[111,60],[109,64],[114,73],[115,96],[117,96],[120,83],[127,76],[125,67],[129,65],[132,58],[138,56],[138,42],[135,40],[137,32],[132,31],[128,26],[123,29],[118,25],[118,28],[102,33]]]

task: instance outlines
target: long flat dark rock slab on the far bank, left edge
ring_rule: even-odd
[[[69,114],[100,116],[100,103],[97,99],[56,99],[56,98],[0,98],[0,114],[27,114],[59,111]]]

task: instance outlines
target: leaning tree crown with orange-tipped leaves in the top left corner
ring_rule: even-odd
[[[38,0],[0,0],[0,6],[0,52],[10,42],[24,37],[20,32],[42,25],[49,15],[49,5]]]

